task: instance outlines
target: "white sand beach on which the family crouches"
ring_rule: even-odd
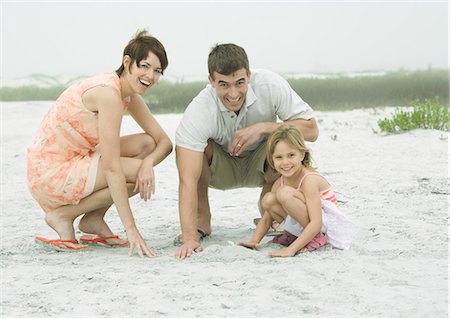
[[[447,316],[448,134],[374,133],[392,108],[317,112],[313,155],[359,235],[348,251],[287,259],[269,258],[274,247],[234,245],[252,233],[259,189],[211,190],[213,235],[205,251],[175,259],[178,176],[171,155],[156,169],[154,198],[132,199],[141,233],[157,252],[140,259],[127,249],[58,253],[34,243],[36,235],[56,238],[26,185],[25,149],[49,106],[1,105],[2,316]],[[180,115],[158,119],[173,138]],[[123,130],[137,128],[125,118]],[[123,235],[115,210],[107,221]]]

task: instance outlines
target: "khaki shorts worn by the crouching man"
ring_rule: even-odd
[[[213,142],[209,185],[220,190],[262,187],[265,181],[266,144],[264,141],[255,150],[234,157]]]

